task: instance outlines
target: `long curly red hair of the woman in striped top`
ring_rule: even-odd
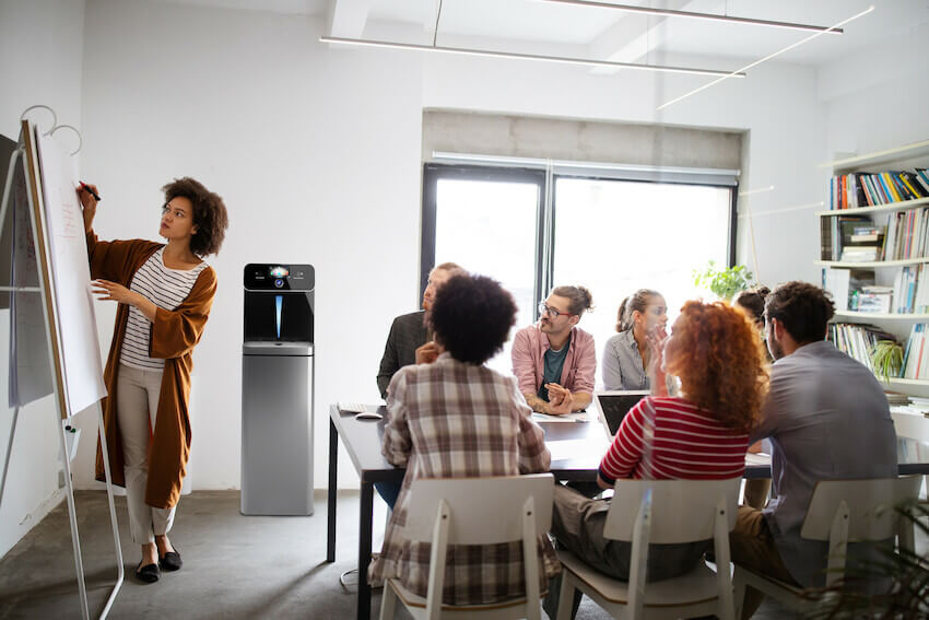
[[[767,364],[754,326],[732,306],[687,302],[666,349],[684,398],[721,424],[751,429],[767,393]]]

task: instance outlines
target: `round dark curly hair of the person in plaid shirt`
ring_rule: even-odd
[[[459,274],[436,292],[430,323],[452,358],[483,364],[503,349],[516,323],[516,302],[492,278]]]

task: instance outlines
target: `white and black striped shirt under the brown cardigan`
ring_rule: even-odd
[[[160,308],[173,311],[190,294],[200,272],[207,268],[200,262],[193,269],[170,269],[164,264],[164,248],[160,248],[132,276],[129,290],[140,293]],[[149,356],[152,321],[136,306],[129,306],[129,323],[119,353],[119,363],[148,371],[164,369],[165,361]]]

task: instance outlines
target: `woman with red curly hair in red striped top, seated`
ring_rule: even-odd
[[[611,489],[620,478],[721,480],[745,469],[749,429],[767,388],[764,351],[745,316],[722,303],[687,302],[663,342],[652,338],[651,385],[623,419],[600,463],[597,482]],[[679,396],[663,388],[665,373],[681,381]],[[650,436],[650,441],[646,437]],[[597,570],[620,580],[630,573],[631,542],[603,538],[609,502],[555,487],[552,533],[558,542]],[[652,545],[649,581],[684,574],[712,541]],[[550,587],[550,592],[551,592]],[[546,601],[546,609],[556,605]],[[551,615],[550,615],[551,616]]]

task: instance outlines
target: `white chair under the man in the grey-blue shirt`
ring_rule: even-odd
[[[893,506],[916,499],[921,484],[922,476],[816,482],[800,536],[808,540],[828,541],[826,586],[844,578],[848,542],[886,540],[896,534],[901,548],[913,551],[913,524],[899,519]],[[738,564],[733,583],[739,617],[746,586],[796,611],[807,611],[820,604],[815,598],[804,596],[802,587]]]

